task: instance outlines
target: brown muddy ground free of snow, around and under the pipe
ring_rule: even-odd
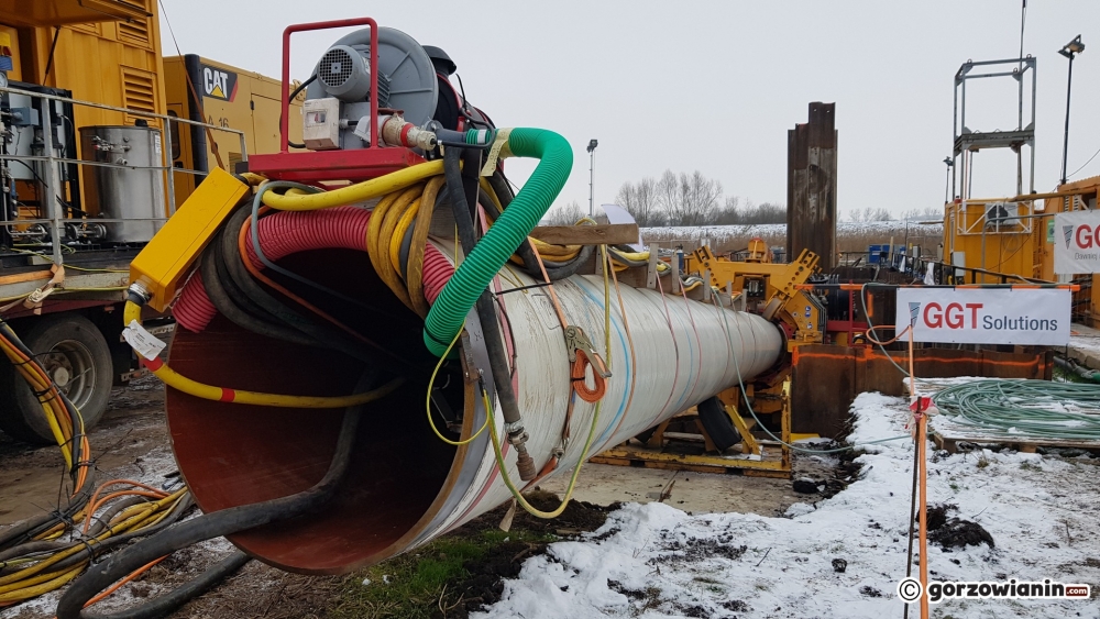
[[[163,405],[163,387],[152,377],[116,389],[103,420],[89,433],[100,478],[139,478],[158,485],[174,483]],[[664,494],[667,502],[689,511],[711,511],[724,506],[724,511],[773,516],[782,513],[795,501],[813,502],[835,494],[854,474],[844,462],[822,458],[795,458],[795,468],[796,478],[812,478],[824,491],[799,494],[788,479],[590,465],[582,472],[582,490],[578,496],[593,502],[574,501],[554,520],[540,520],[518,510],[512,523],[512,531],[516,534],[492,545],[481,559],[463,565],[468,575],[448,582],[438,605],[433,605],[438,609],[431,609],[427,616],[464,618],[470,611],[497,600],[503,590],[502,578],[515,577],[524,561],[543,552],[550,541],[578,537],[600,528],[607,512],[615,509],[617,500],[658,500]],[[3,489],[0,528],[52,510],[63,479],[61,455],[56,447],[33,449],[0,433],[0,488]],[[546,486],[550,490],[559,490],[554,484]],[[584,491],[584,488],[588,490]],[[618,488],[619,491],[609,488]],[[727,498],[723,500],[722,497]],[[529,500],[542,509],[553,509],[559,502],[553,491],[544,489],[534,493]],[[502,506],[483,515],[451,535],[481,539],[479,537],[485,531],[497,529],[507,507]],[[231,545],[224,540],[179,551],[100,603],[98,608],[108,611],[138,604],[143,598],[188,581],[229,552]],[[349,587],[359,586],[360,581],[362,574],[301,576],[253,561],[220,587],[186,605],[172,617],[289,619],[395,616],[384,609],[359,608],[349,601]],[[57,597],[57,594],[51,594],[4,609],[0,616],[12,619],[52,617]]]

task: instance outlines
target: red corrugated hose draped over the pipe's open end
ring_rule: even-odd
[[[270,261],[309,250],[346,248],[366,251],[366,225],[371,212],[359,207],[337,207],[318,211],[280,211],[260,220],[260,246]],[[249,259],[264,268],[252,243]],[[431,243],[425,246],[424,294],[429,303],[454,275],[454,265]],[[199,332],[218,313],[196,273],[184,286],[173,314],[180,327]]]

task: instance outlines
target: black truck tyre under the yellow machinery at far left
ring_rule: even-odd
[[[79,409],[85,430],[90,430],[107,410],[114,383],[107,340],[77,313],[46,316],[31,324],[23,343]],[[0,367],[0,430],[28,443],[56,443],[38,399],[12,366]]]

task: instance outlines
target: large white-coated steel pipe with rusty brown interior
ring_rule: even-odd
[[[435,242],[444,254],[450,248]],[[427,424],[425,398],[431,366],[418,318],[374,275],[366,255],[345,250],[305,252],[286,264],[299,273],[381,307],[389,318],[330,302],[336,313],[402,361],[406,385],[369,409],[351,473],[338,498],[316,513],[235,534],[231,540],[270,564],[302,573],[338,574],[408,551],[501,505],[510,495],[501,480],[487,432],[449,446]],[[570,397],[562,328],[544,287],[512,266],[493,283],[502,333],[514,360],[513,380],[530,433],[528,450],[542,466],[562,444]],[[604,349],[604,288],[596,276],[554,284],[565,317]],[[612,290],[610,354],[596,438],[588,455],[738,383],[773,367],[783,350],[779,329],[762,318],[620,287]],[[318,300],[322,302],[322,300]],[[625,310],[625,311],[624,311]],[[463,439],[485,421],[477,384],[486,369],[471,333],[459,362],[437,377],[438,401],[462,411]],[[470,343],[473,342],[473,343]],[[183,374],[226,386],[288,394],[348,394],[364,373],[358,362],[316,349],[268,340],[217,318],[201,333],[180,331],[170,363]],[[406,365],[402,365],[406,364]],[[428,368],[428,369],[425,369]],[[492,385],[485,379],[484,384]],[[594,405],[576,400],[564,456],[554,474],[582,457]],[[180,472],[205,511],[302,490],[323,475],[341,411],[275,409],[210,402],[169,389],[168,424]],[[433,414],[436,414],[433,412]],[[504,425],[495,406],[497,428]],[[437,417],[437,424],[443,425]],[[457,436],[455,436],[457,438]],[[515,454],[505,460],[517,483]],[[582,475],[583,483],[583,475]]]

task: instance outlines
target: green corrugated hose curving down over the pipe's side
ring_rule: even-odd
[[[552,131],[513,129],[507,150],[517,157],[538,158],[539,165],[432,303],[425,319],[424,343],[436,356],[447,351],[482,290],[538,225],[573,169],[573,150]]]

